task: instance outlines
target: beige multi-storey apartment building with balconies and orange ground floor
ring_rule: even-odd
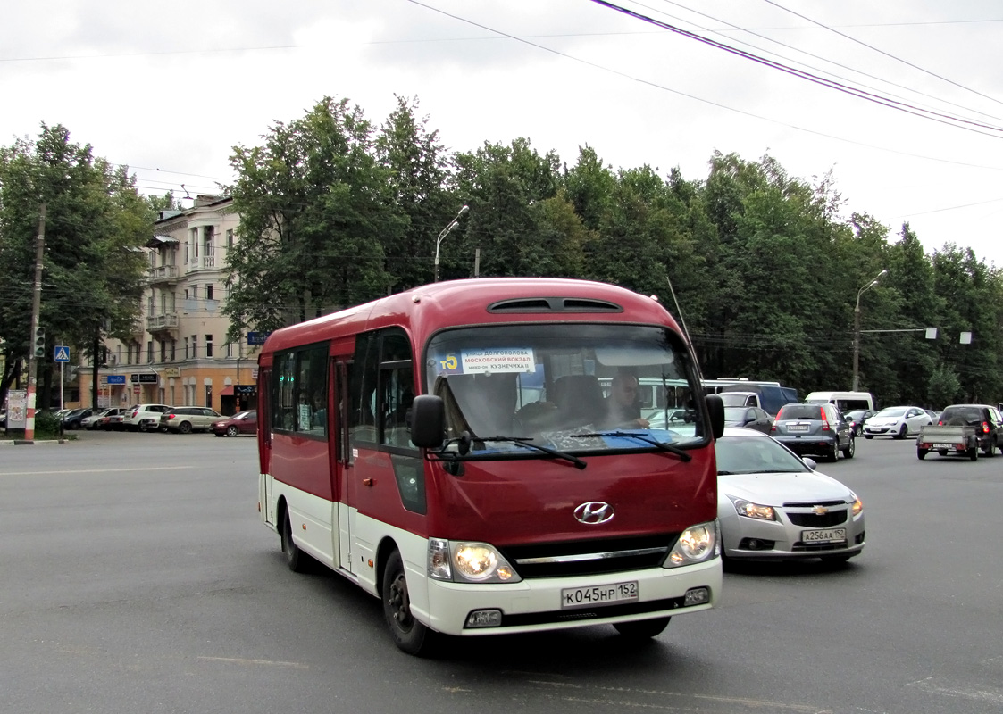
[[[208,406],[224,414],[257,405],[258,350],[228,342],[227,251],[240,217],[229,198],[200,196],[191,209],[164,211],[146,244],[142,315],[130,339],[108,340],[98,376],[99,406],[157,403]],[[80,370],[90,402],[91,373]]]

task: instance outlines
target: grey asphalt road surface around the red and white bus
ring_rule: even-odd
[[[182,445],[182,448],[179,446]],[[0,445],[0,714],[1003,712],[1003,456],[858,442],[868,546],[726,573],[721,607],[627,646],[611,627],[396,650],[378,601],[289,572],[253,438]]]

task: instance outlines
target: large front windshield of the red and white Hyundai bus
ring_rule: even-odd
[[[522,440],[579,453],[705,441],[689,354],[661,327],[463,327],[429,340],[425,366],[426,393],[445,404],[446,435],[472,437],[470,457],[533,452]]]

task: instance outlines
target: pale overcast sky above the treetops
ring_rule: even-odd
[[[62,123],[143,193],[194,196],[233,180],[235,144],[325,95],[376,124],[416,96],[453,150],[525,136],[569,164],[589,144],[687,180],[715,150],[812,184],[831,170],[846,215],[1003,267],[998,2],[615,4],[697,37],[591,0],[7,2],[0,143]]]

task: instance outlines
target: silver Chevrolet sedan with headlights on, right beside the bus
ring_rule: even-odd
[[[864,503],[811,459],[736,427],[725,427],[714,452],[726,559],[844,562],[864,550]]]

